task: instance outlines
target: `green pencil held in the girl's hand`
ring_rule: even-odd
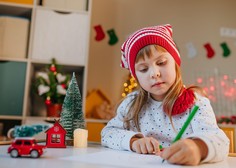
[[[186,128],[189,126],[191,120],[193,119],[194,115],[196,114],[197,110],[199,109],[198,106],[194,106],[192,112],[189,114],[187,120],[185,121],[183,127],[181,128],[181,130],[179,131],[179,133],[177,134],[177,136],[175,137],[175,139],[172,141],[172,143],[178,141],[181,139],[182,135],[184,134]],[[162,160],[162,163],[165,161],[165,159]]]

